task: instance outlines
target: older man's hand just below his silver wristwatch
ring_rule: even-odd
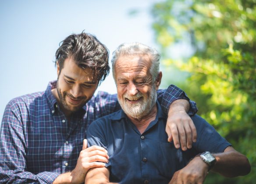
[[[174,173],[169,184],[203,184],[208,166],[197,156],[187,166]]]

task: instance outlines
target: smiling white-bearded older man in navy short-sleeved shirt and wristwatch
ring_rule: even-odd
[[[156,99],[162,78],[159,58],[156,50],[140,43],[120,45],[114,52],[113,77],[122,110],[89,127],[89,146],[107,149],[110,159],[105,167],[90,169],[85,183],[164,184],[173,175],[171,183],[203,183],[210,169],[226,177],[249,173],[248,159],[197,115],[192,117],[198,131],[192,149],[182,151],[167,142],[166,117]]]

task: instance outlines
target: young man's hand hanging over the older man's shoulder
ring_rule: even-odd
[[[192,142],[196,142],[196,127],[186,110],[189,103],[185,99],[174,101],[169,109],[165,131],[168,135],[168,142],[173,141],[175,148],[183,151],[192,148]],[[181,144],[181,145],[180,145]]]

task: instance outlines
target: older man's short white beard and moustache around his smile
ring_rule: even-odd
[[[135,100],[139,99],[140,97],[143,97],[143,100],[139,101],[138,103],[131,104],[127,102],[127,99]],[[125,93],[122,99],[118,97],[118,102],[120,103],[125,114],[135,119],[141,119],[142,117],[148,115],[153,109],[154,105],[156,104],[156,97],[156,88],[153,86],[152,91],[149,94],[149,98],[146,94],[141,92],[138,92],[135,96],[129,96],[127,93]]]

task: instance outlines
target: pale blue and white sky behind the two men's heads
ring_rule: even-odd
[[[0,0],[0,119],[11,99],[44,91],[57,79],[54,55],[72,33],[96,35],[110,59],[123,42],[156,48],[150,8],[160,1]],[[111,72],[97,90],[116,92]]]

